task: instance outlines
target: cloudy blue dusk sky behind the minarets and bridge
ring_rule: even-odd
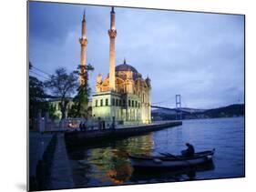
[[[47,74],[80,61],[81,21],[87,19],[87,64],[109,71],[110,7],[29,2],[29,60]],[[158,106],[214,108],[244,103],[244,16],[115,7],[116,66],[128,65],[151,79]],[[36,72],[36,74],[35,74]],[[46,80],[36,71],[31,75]]]

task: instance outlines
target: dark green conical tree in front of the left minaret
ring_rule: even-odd
[[[88,72],[93,71],[94,67],[90,64],[86,66],[78,66],[77,74],[82,78],[84,83],[82,83],[77,88],[77,96],[74,97],[74,105],[71,107],[70,116],[73,117],[87,117],[88,116],[88,102],[91,92],[91,88],[88,86]],[[82,69],[82,70],[81,70]]]

